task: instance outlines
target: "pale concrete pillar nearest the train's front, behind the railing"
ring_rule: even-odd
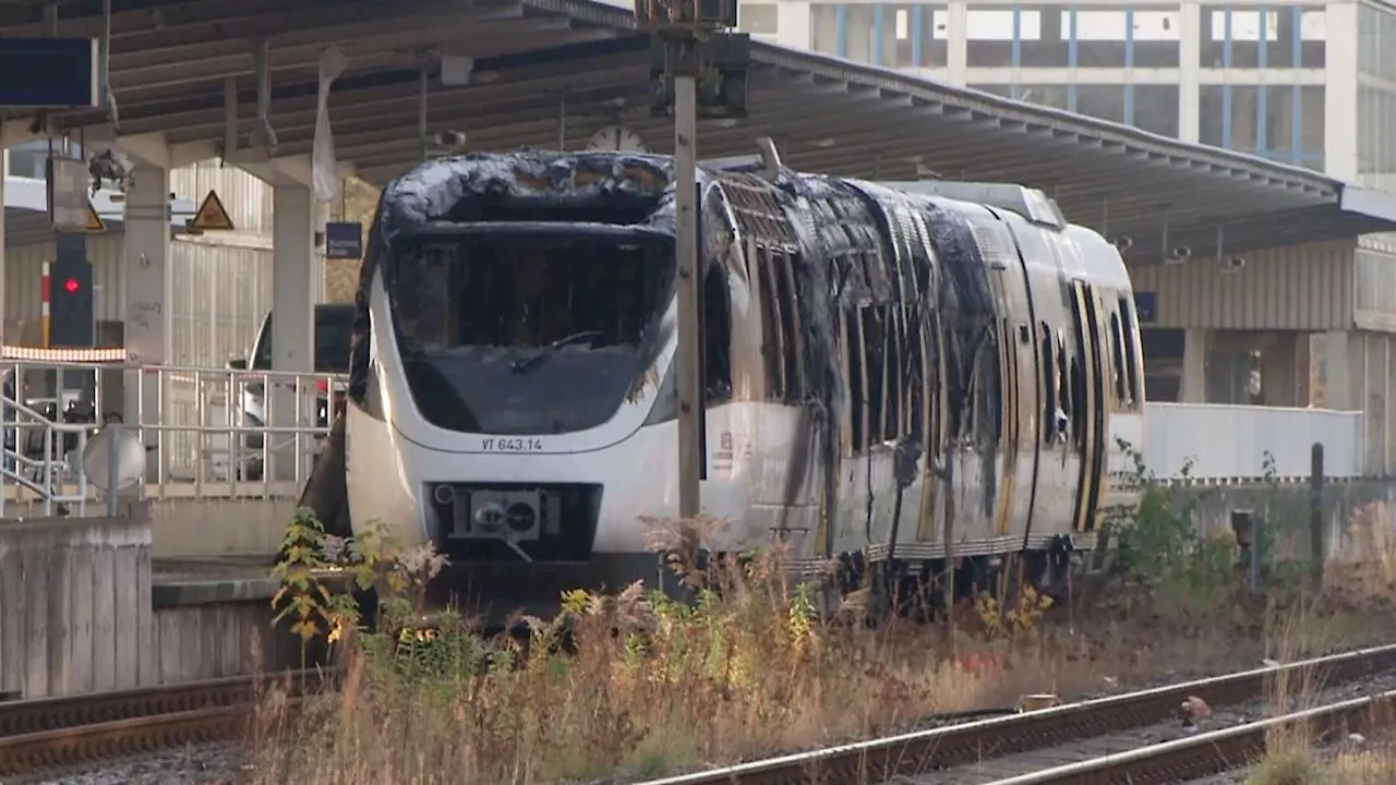
[[[315,303],[314,228],[318,211],[310,189],[302,184],[275,186],[272,207],[271,367],[279,372],[309,373],[314,370],[311,331]],[[272,427],[299,427],[314,422],[313,386],[302,391],[299,406],[295,386],[279,386],[271,398],[268,425]],[[297,479],[295,461],[297,441],[303,441],[302,450],[309,447],[309,440],[272,437],[272,444],[278,446],[272,455],[274,479]]]

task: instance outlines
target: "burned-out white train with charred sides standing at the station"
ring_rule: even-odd
[[[1011,184],[698,180],[709,550],[1047,574],[1094,546],[1143,437],[1114,246]],[[434,543],[497,601],[656,575],[673,196],[669,158],[617,152],[470,154],[384,190],[335,441],[356,529]]]

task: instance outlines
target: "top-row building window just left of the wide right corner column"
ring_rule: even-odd
[[[1328,24],[1322,6],[1202,6],[1203,68],[1322,68]]]

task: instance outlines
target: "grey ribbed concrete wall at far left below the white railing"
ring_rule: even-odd
[[[0,691],[154,686],[154,641],[148,525],[0,520]]]

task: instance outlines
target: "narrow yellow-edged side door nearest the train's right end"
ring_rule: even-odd
[[[1104,370],[1110,359],[1103,349],[1100,299],[1094,286],[1072,282],[1071,317],[1076,334],[1076,359],[1072,374],[1072,423],[1081,454],[1081,480],[1076,483],[1074,529],[1094,531],[1106,458],[1106,390]]]

